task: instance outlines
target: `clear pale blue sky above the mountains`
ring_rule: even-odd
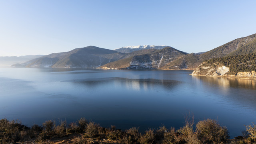
[[[0,0],[0,56],[98,46],[204,52],[256,33],[256,0]]]

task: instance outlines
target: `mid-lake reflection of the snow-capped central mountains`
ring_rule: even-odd
[[[130,78],[93,78],[84,80],[69,80],[66,82],[74,82],[76,84],[83,84],[86,87],[99,87],[111,84],[114,87],[122,87],[129,90],[148,90],[155,87],[162,87],[166,90],[171,90],[178,84],[182,83],[177,80],[156,80],[156,79],[130,79]]]

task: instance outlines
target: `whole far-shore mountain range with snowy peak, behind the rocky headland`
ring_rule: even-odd
[[[42,56],[12,66],[85,67],[106,69],[195,70],[202,62],[226,56],[256,53],[256,34],[232,40],[208,52],[182,52],[170,46],[126,46],[115,50],[87,46]]]

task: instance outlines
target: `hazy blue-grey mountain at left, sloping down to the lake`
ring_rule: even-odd
[[[120,59],[124,54],[114,50],[87,46],[76,48],[69,52],[53,53],[42,56],[22,64],[14,64],[16,67],[99,67],[108,62]]]

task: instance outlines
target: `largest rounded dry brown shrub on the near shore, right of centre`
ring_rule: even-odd
[[[196,124],[196,131],[203,143],[226,142],[229,137],[227,128],[220,126],[216,120],[212,119],[199,121]]]

